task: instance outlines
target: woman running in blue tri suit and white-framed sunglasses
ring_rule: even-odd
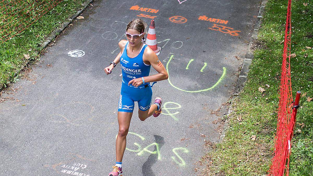
[[[141,42],[144,40],[145,28],[146,24],[138,18],[128,23],[127,40],[121,40],[118,44],[121,52],[110,63],[110,66],[104,69],[108,75],[116,64],[121,62],[123,83],[117,113],[119,132],[115,143],[116,164],[109,176],[122,175],[122,159],[126,148],[126,135],[134,110],[134,101],[138,101],[138,116],[141,121],[146,120],[152,114],[157,117],[162,112],[161,98],[156,97],[154,104],[151,105],[150,82],[166,80],[168,75],[154,51]],[[151,65],[158,74],[149,76]]]

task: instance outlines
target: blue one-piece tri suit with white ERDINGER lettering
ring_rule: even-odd
[[[127,56],[128,41],[120,58],[122,68],[122,88],[121,96],[118,103],[118,111],[133,112],[134,102],[138,101],[141,111],[149,110],[151,106],[152,89],[149,83],[142,84],[138,87],[128,85],[128,82],[135,78],[149,76],[151,65],[146,65],[143,60],[143,52],[147,45],[143,44],[139,54],[130,58]]]

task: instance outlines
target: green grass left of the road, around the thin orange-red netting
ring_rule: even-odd
[[[5,0],[0,3],[0,7],[8,2],[10,1]],[[22,2],[26,3],[23,4]],[[47,2],[50,4],[53,1],[39,0],[36,3],[33,2],[35,2],[35,0],[23,0],[18,3],[18,5],[9,3],[11,7],[8,9],[6,9],[8,5],[0,8],[1,12],[4,11],[0,13],[0,26],[4,26],[0,29],[0,39],[2,39],[2,41],[16,34],[17,31],[26,27],[30,22],[33,22],[32,17],[38,14],[41,9],[47,8],[48,5],[45,5],[48,4]],[[20,71],[27,67],[27,64],[32,60],[38,60],[38,52],[41,50],[39,44],[42,43],[54,29],[58,28],[65,19],[76,13],[79,8],[82,8],[81,4],[83,2],[84,0],[63,0],[42,16],[42,18],[26,28],[26,30],[1,44],[0,89],[16,82]],[[33,5],[31,5],[32,3]],[[39,5],[40,3],[41,5]],[[22,4],[23,6],[21,6]],[[6,15],[10,13],[11,9],[13,9],[13,12]],[[19,22],[20,20],[22,21]],[[11,25],[13,26],[11,27]],[[2,43],[2,41],[0,40],[0,43]],[[24,57],[24,54],[29,54],[30,57]]]

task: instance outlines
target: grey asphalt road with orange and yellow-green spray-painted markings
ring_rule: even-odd
[[[219,119],[227,112],[259,3],[96,1],[14,91],[3,93],[0,173],[86,176],[111,171],[121,68],[110,75],[103,69],[118,54],[127,23],[139,15],[148,24],[155,20],[162,47],[158,57],[169,79],[152,88],[153,98],[163,98],[163,114],[144,122],[133,114],[123,173],[194,175],[194,163],[208,152],[205,142],[220,136]],[[72,50],[84,55],[71,57]]]

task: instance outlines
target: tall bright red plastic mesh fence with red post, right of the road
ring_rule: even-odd
[[[290,140],[295,125],[295,111],[292,111],[293,99],[290,78],[290,38],[291,38],[291,0],[288,0],[285,26],[283,61],[281,65],[280,97],[275,137],[275,156],[269,168],[269,175],[289,175]],[[287,162],[286,162],[287,161]],[[287,167],[286,167],[287,165]]]

